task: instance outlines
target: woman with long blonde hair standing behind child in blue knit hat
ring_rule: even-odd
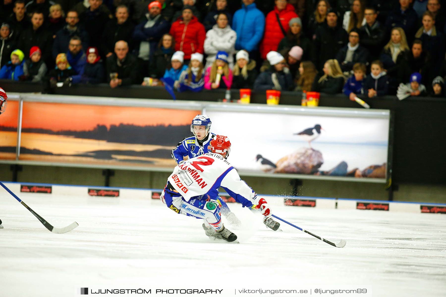
[[[391,37],[387,45],[384,46],[380,60],[384,64],[384,69],[389,77],[389,94],[396,94],[396,89],[400,82],[405,81],[403,69],[408,61],[409,46],[406,41],[406,34],[400,27],[392,29]]]

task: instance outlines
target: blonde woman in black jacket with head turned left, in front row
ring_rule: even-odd
[[[338,94],[342,92],[346,77],[343,75],[338,60],[330,59],[325,62],[324,75],[314,79],[311,90],[326,94]]]

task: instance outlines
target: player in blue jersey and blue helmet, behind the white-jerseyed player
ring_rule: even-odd
[[[211,133],[211,124],[211,119],[206,114],[197,114],[197,116],[192,119],[190,132],[192,132],[194,136],[184,138],[178,143],[177,147],[172,150],[172,158],[175,162],[181,165],[185,162],[183,158],[186,156],[189,159],[192,159],[210,151],[210,142],[215,136],[214,133]],[[240,225],[240,220],[233,212],[231,212],[226,202],[220,197],[218,197],[217,202],[220,204],[223,216],[225,216],[231,224],[236,226]]]

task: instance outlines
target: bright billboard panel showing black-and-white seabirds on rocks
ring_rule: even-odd
[[[229,161],[265,172],[386,178],[388,118],[206,111],[212,132],[229,136]]]

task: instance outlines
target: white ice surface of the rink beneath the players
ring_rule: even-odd
[[[79,226],[53,234],[1,189],[0,297],[78,296],[81,287],[152,289],[152,295],[155,289],[224,289],[219,296],[268,296],[237,289],[318,295],[314,288],[364,287],[372,294],[362,296],[446,296],[442,214],[273,207],[275,215],[327,240],[347,240],[335,248],[283,223],[283,232],[267,230],[260,216],[230,204],[243,228],[226,225],[240,240],[229,244],[207,238],[201,220],[149,198],[16,194],[55,227]]]

